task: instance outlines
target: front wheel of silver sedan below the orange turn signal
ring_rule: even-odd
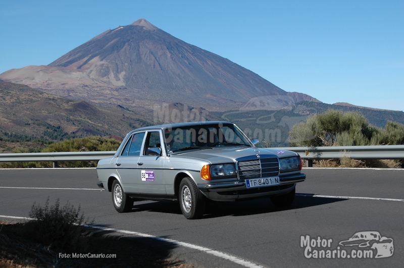
[[[180,182],[178,199],[182,214],[187,219],[198,219],[204,215],[206,197],[203,195],[190,177]]]

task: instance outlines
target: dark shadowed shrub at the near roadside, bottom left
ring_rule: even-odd
[[[85,243],[81,240],[81,225],[84,223],[84,215],[80,215],[78,209],[69,202],[61,208],[59,198],[55,205],[49,206],[49,197],[45,206],[34,203],[31,207],[28,228],[30,236],[34,241],[54,250],[74,252],[85,249]]]

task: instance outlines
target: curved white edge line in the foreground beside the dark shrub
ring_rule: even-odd
[[[32,220],[31,218],[27,218],[27,217],[6,216],[6,215],[0,215],[0,218]],[[248,267],[248,268],[263,268],[264,267],[257,263],[239,258],[237,256],[233,256],[233,255],[230,255],[230,254],[218,251],[218,250],[214,250],[214,249],[211,249],[208,247],[198,246],[198,245],[194,245],[194,244],[190,244],[190,243],[186,243],[186,242],[181,242],[181,241],[177,241],[177,240],[173,240],[173,239],[168,239],[168,238],[164,238],[164,237],[159,237],[159,236],[154,236],[154,235],[149,235],[149,234],[144,234],[144,233],[139,233],[139,232],[133,232],[133,231],[128,231],[128,230],[120,230],[120,229],[115,229],[115,228],[102,227],[102,226],[97,226],[97,225],[84,225],[84,226],[98,229],[98,230],[112,231],[112,232],[117,232],[117,233],[130,234],[130,235],[136,235],[136,236],[140,236],[140,237],[156,239],[156,240],[164,241],[164,242],[167,242],[170,244],[188,247],[191,249],[203,251],[205,253],[229,260],[231,262],[237,263],[239,265],[242,265],[242,266]]]

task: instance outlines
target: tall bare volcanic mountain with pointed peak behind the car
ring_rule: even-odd
[[[243,105],[275,110],[311,100],[306,95],[288,95],[259,75],[175,38],[145,19],[107,30],[47,66],[9,71],[0,79],[125,107],[181,102],[211,110]]]

